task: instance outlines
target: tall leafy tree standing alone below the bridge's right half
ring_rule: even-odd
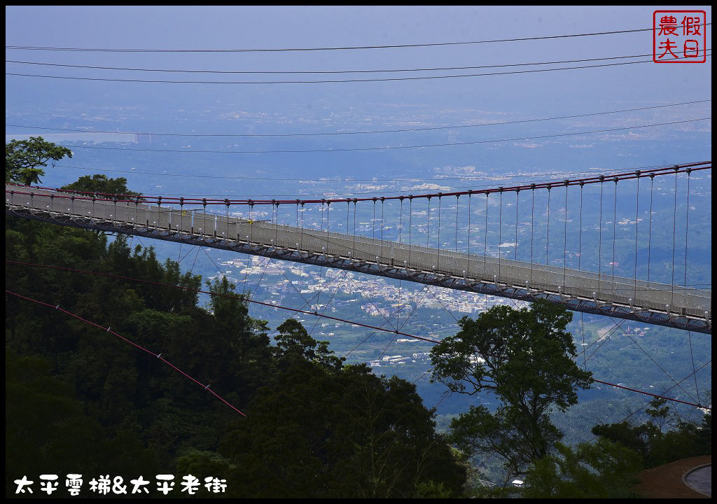
[[[499,455],[514,475],[549,455],[562,438],[549,412],[576,404],[577,389],[592,382],[574,362],[571,318],[542,301],[531,309],[495,306],[476,320],[462,318],[461,331],[433,348],[433,381],[461,394],[488,391],[501,403],[495,412],[471,406],[452,421],[461,450]]]

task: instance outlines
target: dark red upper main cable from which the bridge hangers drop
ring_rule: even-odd
[[[708,166],[706,166],[708,165]],[[635,171],[628,171],[625,173],[617,173],[614,175],[603,175],[602,178],[604,179],[617,179],[617,180],[630,180],[630,179],[640,179],[645,176],[660,176],[660,175],[673,175],[675,173],[686,173],[688,169],[690,171],[699,171],[699,170],[708,170],[712,168],[712,161],[701,161],[699,163],[687,163],[687,164],[680,164],[680,165],[672,165],[672,166],[665,166],[663,168],[653,168],[650,170],[635,170]],[[566,179],[565,181],[561,181],[561,186],[584,186],[585,184],[599,184],[601,176],[593,176],[593,177],[587,177],[586,179]],[[388,201],[391,199],[406,199],[409,196],[381,196],[380,198],[374,197],[368,197],[368,198],[340,198],[340,199],[304,199],[304,200],[296,200],[296,199],[209,199],[209,198],[184,198],[184,197],[163,197],[160,196],[160,198],[150,198],[148,196],[128,196],[126,194],[108,194],[108,193],[98,193],[98,192],[92,192],[92,191],[70,191],[67,189],[57,189],[53,187],[42,187],[42,186],[22,186],[20,184],[6,184],[6,185],[16,185],[18,187],[22,188],[29,188],[29,189],[43,189],[48,191],[56,191],[58,193],[67,192],[72,194],[90,194],[90,196],[61,196],[60,194],[55,195],[55,198],[65,198],[65,199],[91,199],[95,201],[113,201],[115,203],[135,203],[139,204],[141,202],[148,203],[151,201],[158,201],[160,198],[165,204],[171,204],[171,203],[183,203],[183,204],[189,204],[189,205],[199,205],[199,204],[211,204],[211,205],[227,205],[228,204],[239,204],[239,205],[250,205],[253,206],[255,204],[260,205],[276,205],[276,204],[306,204],[306,203],[324,203],[331,205],[332,203],[346,203],[348,201],[376,201],[380,199],[381,201]],[[550,181],[550,182],[541,182],[540,184],[527,184],[522,186],[509,186],[509,187],[503,187],[503,191],[508,192],[517,192],[522,191],[524,189],[548,189],[549,187],[556,186],[556,181]],[[500,191],[500,188],[496,187],[493,189],[470,189],[468,191],[455,191],[455,192],[448,192],[448,193],[435,193],[435,194],[419,194],[417,196],[412,196],[412,198],[433,198],[433,197],[439,197],[439,196],[463,196],[465,194],[471,195],[471,194],[490,194],[490,193],[497,193]],[[7,189],[5,192],[10,192]],[[14,191],[16,194],[30,194],[23,191]],[[98,196],[108,196],[107,198],[101,198]]]

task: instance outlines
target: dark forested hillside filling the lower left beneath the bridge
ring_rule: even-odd
[[[202,288],[201,277],[131,245],[6,220],[6,260]],[[232,295],[227,282],[209,288]],[[465,467],[415,387],[342,366],[295,320],[268,328],[238,298],[213,295],[203,307],[189,290],[27,265],[6,265],[6,290],[100,326],[6,293],[8,496],[24,475],[37,495],[39,475],[68,473],[82,475],[84,495],[92,478],[129,485],[142,475],[163,497],[161,474],[174,475],[175,497],[189,474],[226,480],[223,497],[462,492]],[[161,353],[247,417],[103,328]]]

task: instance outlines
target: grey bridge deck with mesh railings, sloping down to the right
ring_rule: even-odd
[[[79,227],[156,234],[161,239],[201,242],[209,247],[330,264],[462,290],[490,290],[494,295],[516,299],[543,295],[576,310],[711,333],[710,290],[250,221],[225,214],[126,201],[71,200],[66,196],[61,192],[6,186],[6,212]],[[72,222],[63,222],[67,219]],[[571,305],[570,301],[574,303]]]

